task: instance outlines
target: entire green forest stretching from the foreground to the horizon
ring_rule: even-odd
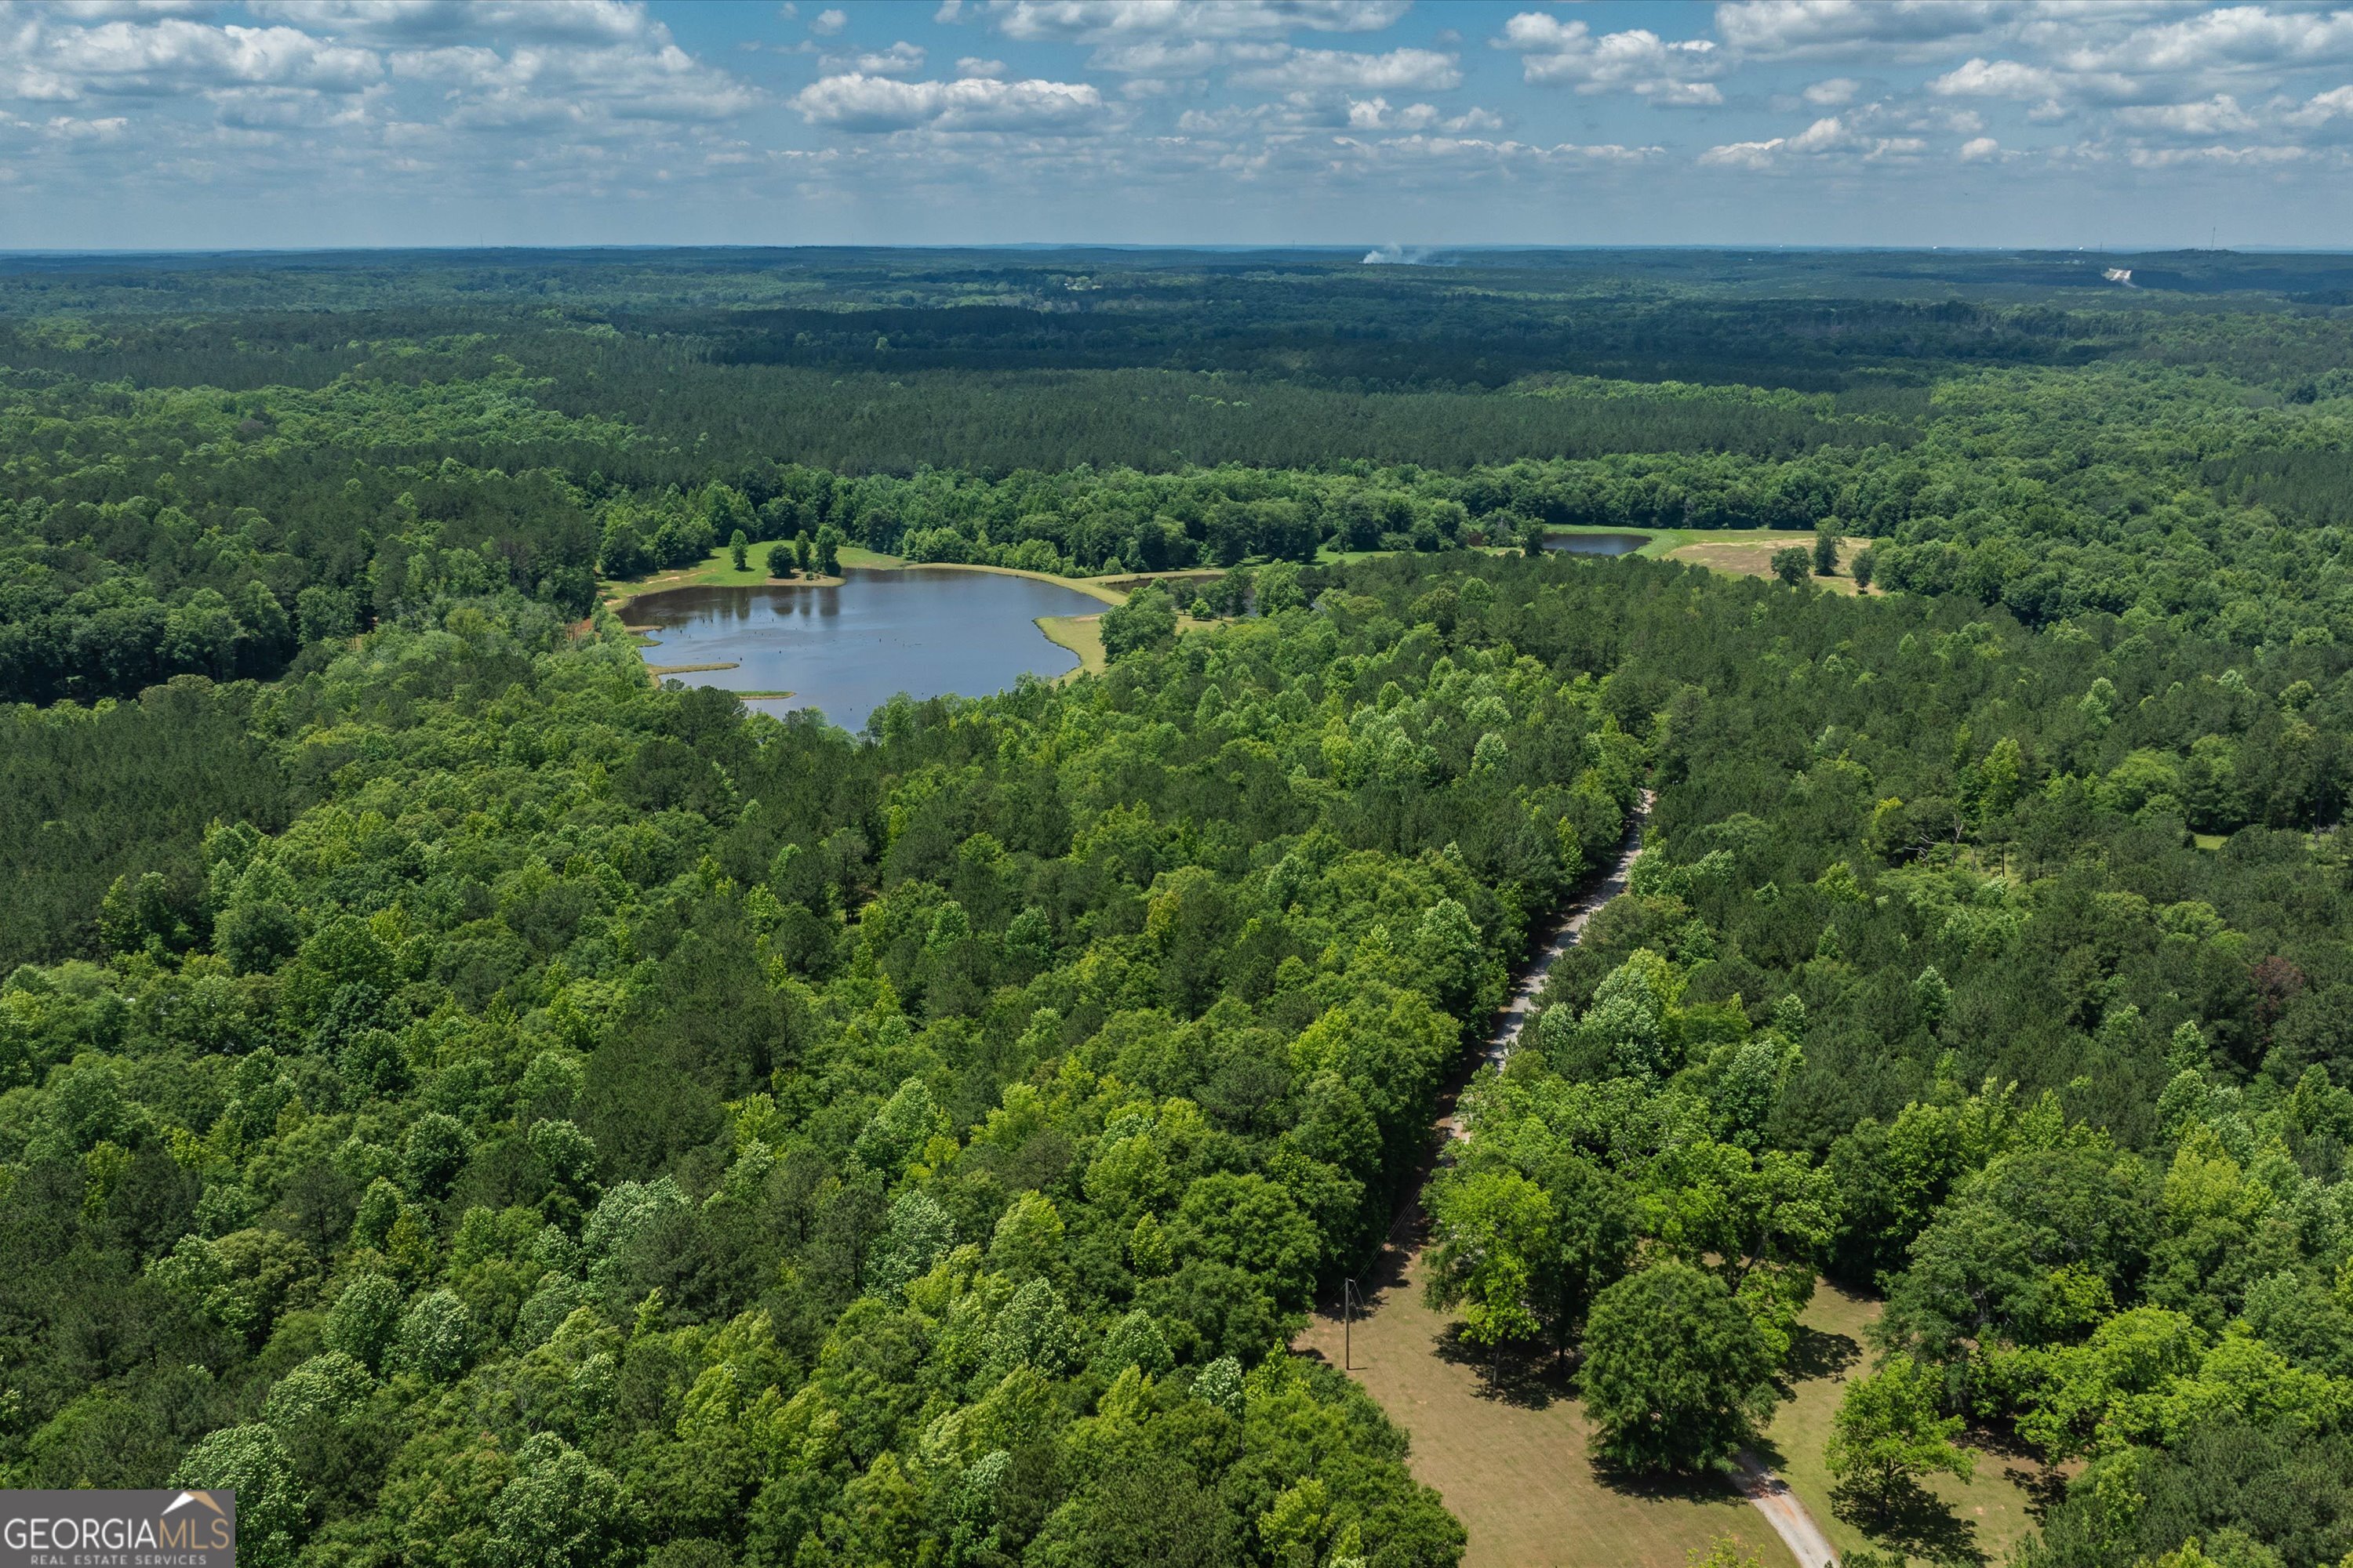
[[[2339,1563],[2334,266],[9,261],[0,1479],[264,1568],[1454,1563],[1285,1349],[1428,1180],[1617,1467],[1828,1276],[1866,1514],[1979,1446],[2035,1568]],[[598,602],[826,529],[1228,618],[849,736]]]

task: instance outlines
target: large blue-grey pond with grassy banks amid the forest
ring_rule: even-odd
[[[988,696],[1024,672],[1068,675],[1078,654],[1047,642],[1038,616],[1099,616],[1101,599],[998,571],[849,567],[838,588],[673,588],[628,604],[652,628],[649,665],[732,665],[678,679],[727,691],[791,691],[842,729],[894,693]]]

